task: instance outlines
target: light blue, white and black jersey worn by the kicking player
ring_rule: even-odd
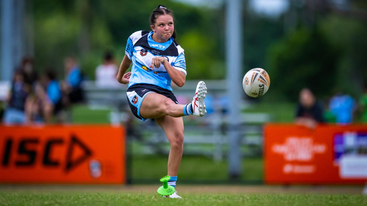
[[[159,68],[149,68],[152,59],[163,56],[171,66],[185,73],[186,61],[183,49],[173,42],[173,38],[164,43],[157,43],[152,39],[153,32],[138,31],[128,38],[125,54],[132,60],[132,69],[128,87],[134,84],[153,84],[172,91],[171,77],[163,64]]]

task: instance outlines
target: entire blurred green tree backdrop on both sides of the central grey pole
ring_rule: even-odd
[[[225,78],[225,7],[200,8],[172,0],[29,2],[33,5],[38,70],[51,66],[62,77],[63,59],[73,55],[87,77],[94,79],[103,52],[114,52],[119,65],[128,36],[150,30],[151,12],[163,4],[175,15],[177,40],[185,49],[187,78]],[[351,10],[366,11],[366,1],[350,2]],[[329,10],[315,12],[311,22],[304,21],[308,19],[304,15],[312,13],[307,9],[294,10],[297,25],[288,32],[286,16],[265,18],[243,10],[243,74],[262,67],[271,79],[270,90],[261,99],[295,100],[303,87],[310,87],[319,97],[332,96],[337,90],[358,96],[367,82],[366,19],[353,12],[341,15]]]

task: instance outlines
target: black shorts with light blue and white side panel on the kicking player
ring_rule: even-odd
[[[127,102],[129,103],[132,114],[134,114],[135,117],[142,119],[143,121],[145,121],[146,118],[141,117],[140,106],[145,96],[150,92],[155,92],[157,94],[166,96],[170,98],[174,103],[178,104],[175,95],[167,89],[163,89],[153,84],[134,84],[127,89]]]

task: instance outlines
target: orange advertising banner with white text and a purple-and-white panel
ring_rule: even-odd
[[[367,125],[268,124],[264,136],[265,183],[366,183]]]

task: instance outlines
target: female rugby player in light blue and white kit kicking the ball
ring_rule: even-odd
[[[183,151],[185,115],[204,116],[206,85],[200,81],[192,103],[179,104],[172,93],[171,81],[185,84],[186,61],[183,49],[175,40],[173,14],[159,5],[150,17],[152,31],[138,31],[128,38],[117,81],[128,84],[127,100],[132,113],[139,119],[155,119],[170,142],[168,184],[175,186]],[[132,63],[131,72],[127,69]],[[170,198],[181,198],[176,192]]]

